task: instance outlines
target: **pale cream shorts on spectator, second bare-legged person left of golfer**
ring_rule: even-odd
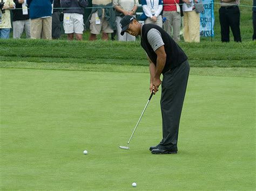
[[[83,34],[84,18],[82,14],[78,13],[64,13],[63,27],[65,34]]]

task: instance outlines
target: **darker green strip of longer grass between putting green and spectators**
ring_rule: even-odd
[[[241,44],[220,42],[209,44],[205,41],[200,44],[180,43],[180,46],[187,54],[192,67],[255,67],[255,41]],[[28,67],[27,62],[31,62],[31,68],[37,68],[33,62],[38,62],[38,65],[69,63],[73,66],[149,65],[138,41],[125,43],[0,39],[0,59],[0,67],[21,68],[25,67],[24,64]]]

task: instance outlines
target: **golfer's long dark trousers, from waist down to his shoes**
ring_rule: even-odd
[[[163,75],[161,83],[161,115],[163,139],[157,146],[164,150],[177,151],[179,122],[185,98],[190,65],[181,63]]]

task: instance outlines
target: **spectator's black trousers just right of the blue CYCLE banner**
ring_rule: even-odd
[[[240,33],[240,10],[237,5],[221,6],[219,9],[219,20],[222,42],[230,41],[230,28],[234,36],[234,41],[242,41]]]

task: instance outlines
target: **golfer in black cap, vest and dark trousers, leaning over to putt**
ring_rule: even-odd
[[[140,45],[150,62],[150,93],[156,94],[161,84],[163,139],[157,146],[151,146],[150,151],[152,154],[177,153],[179,121],[190,72],[187,56],[169,34],[155,24],[140,24],[136,18],[126,15],[120,20],[120,26],[121,35],[127,32],[141,37]]]

